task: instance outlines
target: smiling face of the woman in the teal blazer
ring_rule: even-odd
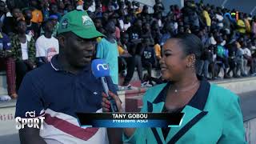
[[[178,39],[171,38],[164,44],[160,60],[163,79],[175,82],[185,74],[188,60],[182,50]]]

